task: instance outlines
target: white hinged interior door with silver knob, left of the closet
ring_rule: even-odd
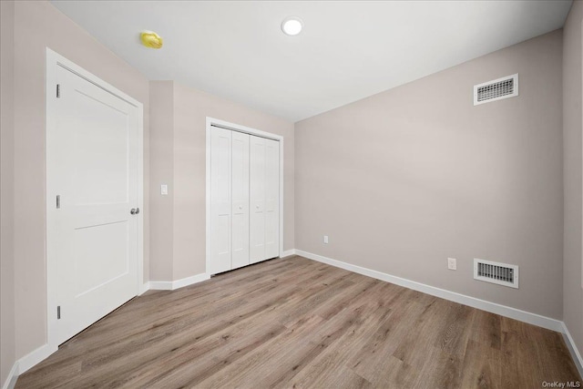
[[[138,293],[138,107],[56,71],[56,341]],[[52,309],[52,307],[51,307]]]

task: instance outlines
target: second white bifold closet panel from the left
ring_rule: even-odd
[[[232,132],[232,269],[249,264],[249,139]]]

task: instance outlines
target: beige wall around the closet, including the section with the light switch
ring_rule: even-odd
[[[283,249],[294,248],[293,123],[173,81],[150,83],[151,280],[175,281],[206,271],[206,118],[284,138]],[[169,195],[160,195],[160,184]]]

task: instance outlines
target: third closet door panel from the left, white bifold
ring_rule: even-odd
[[[251,136],[250,263],[265,260],[265,138]]]

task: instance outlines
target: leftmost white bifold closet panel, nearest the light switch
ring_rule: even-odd
[[[210,273],[231,269],[232,131],[210,131]]]

